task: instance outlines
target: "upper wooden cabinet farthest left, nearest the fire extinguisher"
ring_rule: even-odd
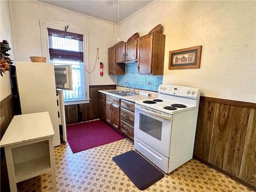
[[[108,48],[108,74],[124,75],[125,64],[116,64],[116,47]]]

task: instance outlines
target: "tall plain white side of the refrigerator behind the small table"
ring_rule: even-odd
[[[53,144],[60,145],[60,130],[53,63],[15,62],[22,114],[49,112]]]

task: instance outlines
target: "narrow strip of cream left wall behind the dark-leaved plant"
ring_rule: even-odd
[[[10,4],[9,1],[0,1],[0,10],[1,10],[1,30],[0,30],[0,41],[7,40],[11,50],[8,51],[10,58],[15,60],[15,51],[12,35],[12,19],[10,14]],[[3,77],[0,76],[0,100],[3,100],[8,95],[12,93],[11,84],[10,84],[10,74],[6,71],[6,74],[3,74]]]

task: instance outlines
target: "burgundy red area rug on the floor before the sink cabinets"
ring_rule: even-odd
[[[103,120],[67,126],[68,144],[73,153],[126,138]]]

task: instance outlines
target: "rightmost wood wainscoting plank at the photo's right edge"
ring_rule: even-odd
[[[250,109],[239,178],[256,186],[256,109]]]

